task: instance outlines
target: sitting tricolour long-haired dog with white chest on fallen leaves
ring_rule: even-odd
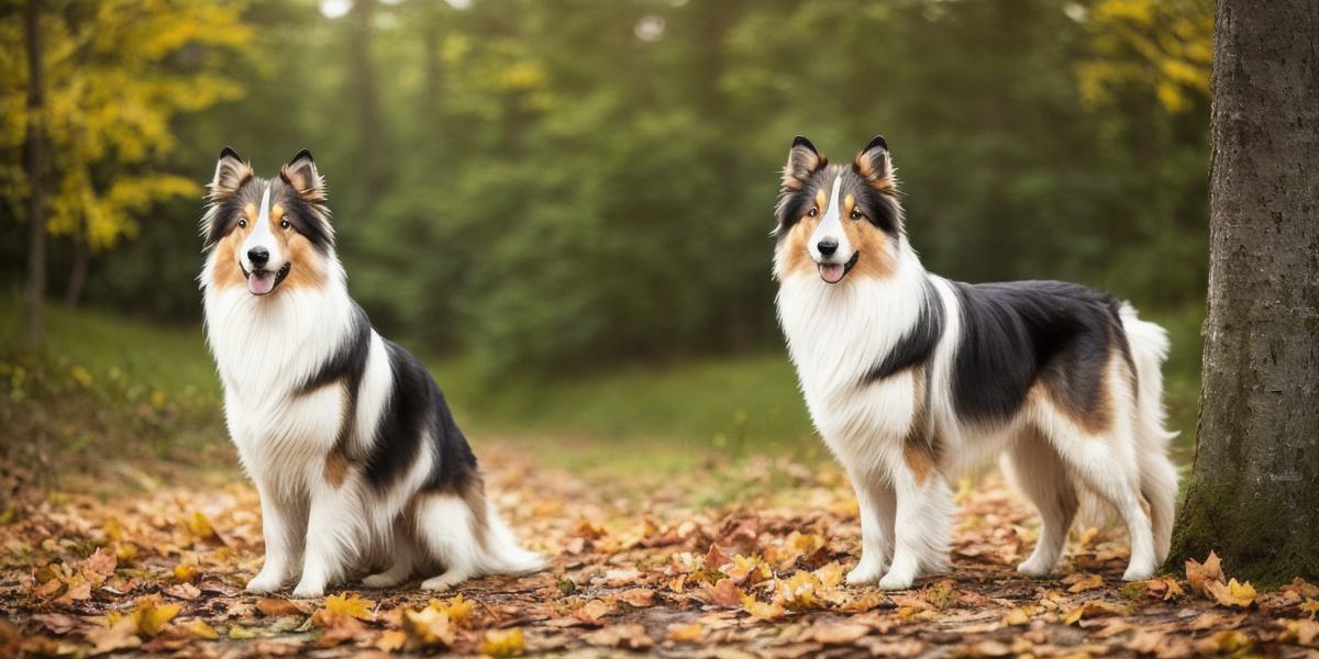
[[[239,457],[261,496],[249,592],[293,594],[388,567],[369,588],[539,569],[485,501],[439,386],[348,297],[324,187],[299,152],[257,178],[226,148],[202,217],[206,336]]]

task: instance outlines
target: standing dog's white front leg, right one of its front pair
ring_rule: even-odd
[[[952,536],[952,493],[942,473],[933,468],[915,472],[904,461],[893,468],[893,488],[897,548],[889,572],[880,580],[885,590],[911,588],[922,572],[943,569]]]

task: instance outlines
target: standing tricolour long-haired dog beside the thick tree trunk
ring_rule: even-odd
[[[1126,525],[1124,579],[1154,572],[1177,497],[1161,327],[1076,283],[927,273],[878,136],[847,165],[798,137],[776,215],[778,319],[811,419],[860,502],[861,559],[848,583],[901,589],[943,569],[947,478],[1001,453],[1043,518],[1020,572],[1053,571],[1082,493]]]

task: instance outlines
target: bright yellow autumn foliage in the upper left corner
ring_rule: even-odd
[[[241,9],[204,0],[104,0],[45,12],[50,233],[84,241],[92,252],[111,249],[137,236],[153,203],[200,195],[195,182],[161,167],[175,146],[177,115],[241,95],[223,72],[253,36]],[[22,21],[0,25],[0,198],[18,203],[29,187]]]

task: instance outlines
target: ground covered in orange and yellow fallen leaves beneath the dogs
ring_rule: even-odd
[[[492,496],[551,568],[443,594],[415,581],[318,600],[243,593],[261,534],[237,477],[18,498],[0,510],[0,656],[1319,652],[1319,588],[1256,590],[1213,556],[1186,579],[1124,584],[1120,531],[1075,535],[1057,579],[1016,576],[1037,527],[992,476],[958,496],[954,569],[882,593],[842,583],[860,529],[831,465],[753,459],[646,480],[483,455]]]

